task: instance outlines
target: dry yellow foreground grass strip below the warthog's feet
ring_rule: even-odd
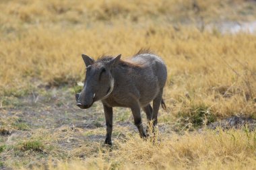
[[[255,132],[241,130],[160,134],[156,143],[137,135],[115,140],[111,149],[99,143],[82,146],[69,154],[86,153],[84,161],[51,158],[49,169],[255,169],[255,142]]]

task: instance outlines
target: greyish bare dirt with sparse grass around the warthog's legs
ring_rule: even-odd
[[[2,150],[5,149],[5,152],[0,153],[0,162],[4,163],[1,169],[46,165],[49,159],[56,163],[59,160],[86,159],[96,155],[98,147],[104,145],[102,104],[98,101],[88,110],[77,108],[73,88],[43,88],[38,93],[24,97],[6,97],[4,101],[7,105],[2,105],[0,110],[0,146]],[[159,118],[164,114],[171,113],[160,110]],[[144,113],[142,116],[146,126],[146,116]],[[173,132],[184,133],[186,129],[179,128],[177,122],[179,120],[160,121],[158,130],[170,136]],[[252,127],[251,130],[255,128],[255,120],[243,118],[214,122],[208,128],[216,129],[220,125],[223,128],[239,128],[247,123]],[[203,132],[204,129],[197,128],[196,131]],[[138,133],[130,110],[115,108],[114,146],[115,140],[125,140],[127,136],[134,135],[138,136]],[[37,141],[40,142],[36,143]]]

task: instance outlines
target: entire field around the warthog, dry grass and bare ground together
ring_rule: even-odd
[[[218,28],[254,22],[255,1],[2,0],[0,10],[0,169],[256,169],[255,122],[209,128],[256,119],[256,35]],[[115,108],[104,146],[101,103],[75,106],[81,54],[140,48],[166,62],[168,110],[152,142]]]

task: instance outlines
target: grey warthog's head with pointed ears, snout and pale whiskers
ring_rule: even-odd
[[[118,65],[121,54],[97,61],[84,54],[82,58],[86,64],[86,79],[81,93],[75,94],[75,99],[79,108],[87,109],[95,101],[106,98],[113,91],[114,78],[111,71]]]

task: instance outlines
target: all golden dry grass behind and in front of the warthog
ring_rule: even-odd
[[[237,114],[256,118],[255,34],[221,34],[200,25],[253,20],[252,1],[13,0],[1,1],[0,9],[1,108],[6,106],[4,97],[24,96],[42,85],[73,86],[82,81],[82,53],[94,58],[121,53],[127,58],[140,48],[150,48],[168,67],[164,90],[168,112],[161,111],[160,124],[179,123],[201,108],[216,118]],[[129,134],[128,128],[117,130]],[[62,138],[58,133],[51,138],[49,133],[36,139],[47,145]],[[90,133],[103,135],[104,128]],[[67,153],[66,163],[64,151],[49,150],[49,157],[57,162],[55,167],[49,161],[49,169],[256,167],[255,131],[181,133],[160,133],[156,144],[131,133],[115,140],[112,149],[90,142],[91,146]],[[86,159],[78,160],[82,153]],[[11,161],[6,164],[20,168]]]

